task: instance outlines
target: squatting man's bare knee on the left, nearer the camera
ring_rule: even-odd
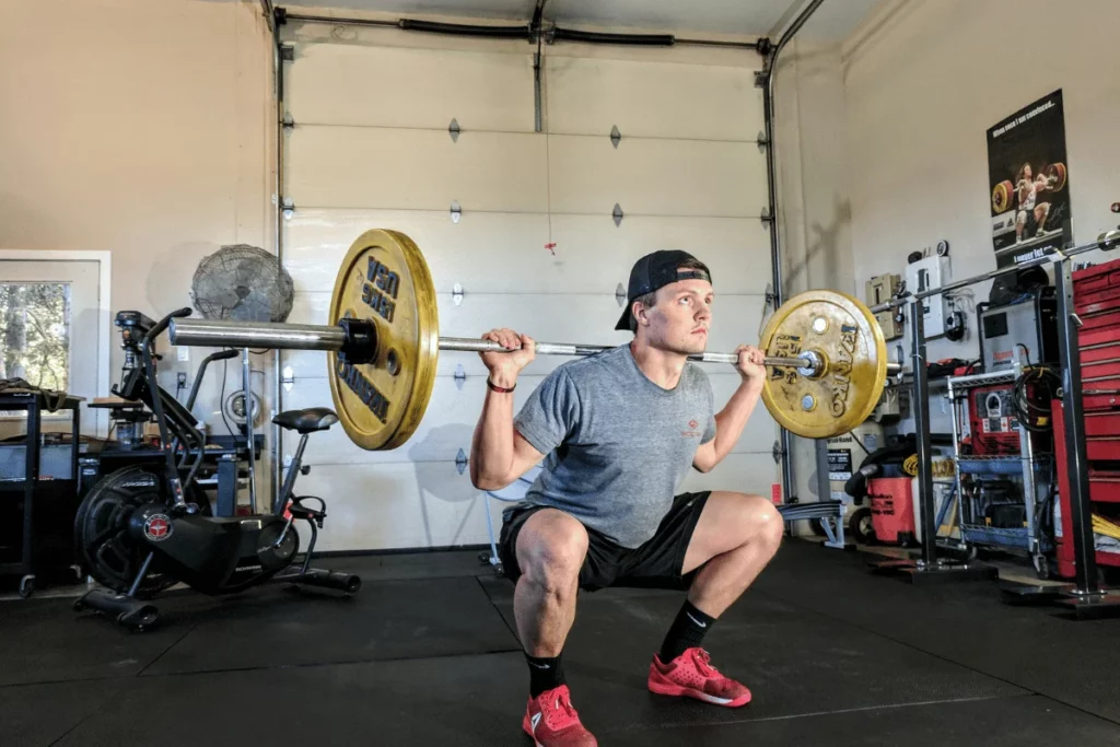
[[[517,535],[517,564],[530,582],[563,594],[579,579],[587,544],[587,530],[577,520],[560,511],[539,511]]]

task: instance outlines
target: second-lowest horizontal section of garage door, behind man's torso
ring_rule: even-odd
[[[740,379],[735,373],[709,372],[709,374],[718,412],[731,398]],[[514,412],[521,411],[543,380],[544,377],[540,375],[521,376],[514,391]],[[486,379],[482,375],[468,376],[464,381],[441,376],[436,380],[420,427],[400,448],[386,451],[360,449],[349,440],[342,426],[335,426],[330,430],[311,435],[304,452],[304,463],[337,465],[455,461],[460,449],[464,454],[470,454],[470,441],[485,398]],[[289,410],[316,407],[333,407],[330,384],[326,379],[300,379],[284,398],[284,408]],[[775,429],[774,420],[759,404],[747,421],[743,436],[732,451],[768,454],[774,442]],[[284,439],[284,456],[295,455],[298,445],[299,439],[296,437]]]

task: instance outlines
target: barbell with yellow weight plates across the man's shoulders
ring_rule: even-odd
[[[329,325],[175,319],[175,345],[324,351],[338,420],[363,449],[393,449],[423,419],[440,351],[505,352],[483,339],[439,337],[436,287],[420,249],[396,231],[367,231],[335,279]],[[540,355],[594,355],[607,345],[536,343]],[[763,401],[774,419],[806,438],[862,423],[886,385],[887,346],[871,311],[832,290],[783,304],[759,339],[768,373]],[[689,356],[738,361],[735,353]]]

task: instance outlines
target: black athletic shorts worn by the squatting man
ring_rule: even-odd
[[[647,587],[660,589],[688,589],[696,575],[683,575],[684,553],[688,552],[692,531],[700,521],[700,512],[711,492],[684,493],[673,498],[673,506],[665,514],[656,533],[645,544],[631,550],[615,544],[599,532],[587,529],[587,558],[579,571],[579,586],[597,591],[609,586]],[[521,577],[517,567],[517,534],[525,522],[547,506],[523,504],[505,514],[498,540],[498,557],[505,575],[516,582]]]

